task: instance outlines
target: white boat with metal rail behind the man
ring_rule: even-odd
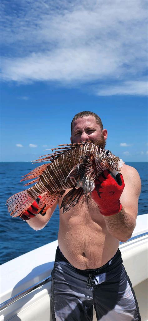
[[[56,240],[1,265],[1,321],[52,321],[51,271],[57,245]],[[147,321],[148,214],[138,215],[132,237],[120,242],[119,249],[141,319]]]

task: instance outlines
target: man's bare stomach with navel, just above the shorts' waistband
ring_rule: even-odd
[[[68,222],[67,222],[68,223]],[[96,269],[117,252],[119,240],[98,224],[60,224],[58,244],[62,254],[74,267]]]

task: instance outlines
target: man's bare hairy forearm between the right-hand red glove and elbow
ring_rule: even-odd
[[[127,239],[130,239],[136,225],[136,220],[133,216],[126,213],[124,208],[122,208],[121,212],[117,214],[103,216],[103,218],[105,220],[107,230],[112,236],[119,239],[121,242],[125,242]]]

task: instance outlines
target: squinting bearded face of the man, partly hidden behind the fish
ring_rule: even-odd
[[[107,130],[101,131],[94,116],[87,116],[76,119],[72,124],[71,143],[81,143],[90,140],[92,143],[105,147]]]

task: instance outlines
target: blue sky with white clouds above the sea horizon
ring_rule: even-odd
[[[1,161],[70,143],[84,110],[112,153],[148,160],[147,13],[145,0],[2,0]]]

